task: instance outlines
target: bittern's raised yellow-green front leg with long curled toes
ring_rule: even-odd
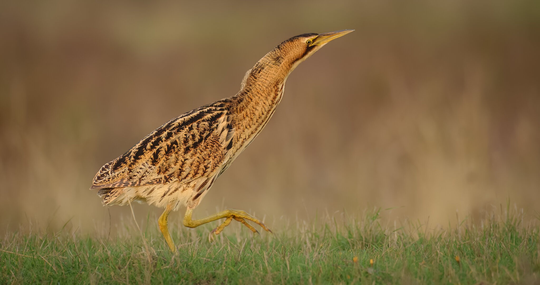
[[[200,225],[206,224],[206,223],[210,223],[211,221],[226,218],[226,220],[221,225],[219,225],[217,228],[214,228],[214,230],[212,232],[210,232],[210,234],[212,234],[212,233],[219,234],[226,226],[228,226],[231,223],[232,219],[237,220],[240,223],[244,224],[246,227],[249,228],[249,230],[251,230],[254,233],[257,233],[257,230],[255,230],[255,228],[253,226],[246,223],[245,220],[252,221],[253,223],[261,226],[267,232],[272,232],[259,219],[251,216],[250,214],[248,214],[248,213],[246,213],[244,211],[240,211],[240,210],[228,209],[228,210],[221,211],[219,213],[215,213],[215,214],[210,215],[208,217],[200,218],[200,219],[197,219],[197,220],[192,220],[192,218],[191,218],[192,214],[193,214],[193,209],[188,208],[186,210],[186,214],[184,216],[184,226],[194,228],[194,227],[198,227]]]

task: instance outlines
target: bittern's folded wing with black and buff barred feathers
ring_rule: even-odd
[[[229,104],[224,99],[165,123],[103,165],[91,189],[186,183],[219,170],[234,134]]]

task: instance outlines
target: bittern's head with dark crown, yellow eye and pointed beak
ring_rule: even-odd
[[[292,69],[300,62],[306,60],[313,53],[326,45],[330,40],[337,39],[354,30],[341,30],[329,33],[305,33],[299,36],[285,40],[276,48],[286,55],[294,65]]]

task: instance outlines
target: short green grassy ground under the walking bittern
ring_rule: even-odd
[[[444,227],[385,224],[379,210],[295,221],[260,237],[231,225],[212,243],[210,225],[175,224],[176,255],[149,220],[141,231],[126,222],[116,240],[106,233],[8,233],[0,240],[0,284],[540,282],[538,217],[508,207]]]

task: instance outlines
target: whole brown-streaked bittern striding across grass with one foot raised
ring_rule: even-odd
[[[165,208],[158,224],[172,252],[176,247],[167,218],[180,206],[187,207],[183,222],[186,227],[225,218],[210,235],[219,234],[233,219],[253,232],[257,230],[246,220],[270,231],[244,211],[230,209],[193,220],[193,209],[215,179],[266,126],[294,68],[330,40],[352,31],[305,33],[285,40],[246,72],[236,95],[194,109],[152,131],[123,155],[103,165],[91,189],[99,189],[103,205],[140,201]]]

